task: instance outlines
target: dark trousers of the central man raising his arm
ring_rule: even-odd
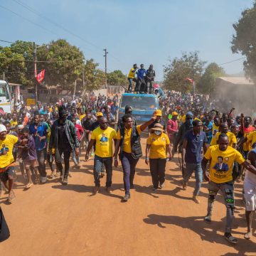
[[[129,194],[130,185],[133,184],[135,167],[139,159],[134,159],[132,154],[122,152],[121,163],[124,171],[124,191],[125,194]]]

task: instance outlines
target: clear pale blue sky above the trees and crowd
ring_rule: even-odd
[[[82,39],[54,26],[17,1]],[[108,69],[129,72],[133,63],[153,64],[156,80],[163,78],[163,65],[182,51],[199,50],[208,63],[226,63],[240,58],[230,50],[232,24],[253,0],[0,0],[1,40],[48,43],[65,38],[78,46],[85,58],[94,58],[105,67],[103,48],[107,48]],[[16,14],[3,9],[4,6]],[[50,32],[51,31],[51,32]],[[0,42],[1,46],[8,46]],[[229,74],[242,71],[242,60],[223,65]]]

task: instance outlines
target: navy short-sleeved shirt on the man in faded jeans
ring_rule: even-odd
[[[184,139],[188,141],[186,146],[185,161],[190,164],[197,164],[202,161],[202,146],[203,143],[207,143],[207,137],[205,132],[201,132],[198,135],[193,133],[193,130],[186,132]]]

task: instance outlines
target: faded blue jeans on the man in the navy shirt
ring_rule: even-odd
[[[201,162],[196,164],[186,163],[186,170],[183,177],[183,180],[185,182],[188,182],[189,178],[193,174],[193,171],[195,171],[195,177],[196,177],[196,187],[195,191],[193,192],[193,196],[198,196],[198,193],[201,188],[201,184],[203,181],[203,170],[201,167]]]

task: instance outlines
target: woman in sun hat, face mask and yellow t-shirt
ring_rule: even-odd
[[[161,124],[156,123],[151,128],[151,135],[146,140],[146,164],[150,166],[150,173],[153,182],[153,190],[164,188],[164,176],[166,168],[166,155],[169,152],[171,160],[171,146],[169,137],[164,133]]]

